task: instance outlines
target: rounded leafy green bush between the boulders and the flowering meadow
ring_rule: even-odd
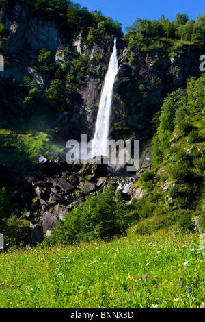
[[[58,223],[47,239],[48,243],[72,243],[74,240],[112,238],[124,234],[129,216],[120,199],[114,202],[115,189],[104,188],[96,196],[88,196],[69,212],[64,223]]]

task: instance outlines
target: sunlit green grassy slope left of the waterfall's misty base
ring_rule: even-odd
[[[1,128],[0,143],[0,163],[24,176],[31,176],[32,173],[38,174],[38,169],[36,170],[38,153],[49,156],[49,151],[56,153],[63,149],[53,143],[51,130],[42,132],[27,127]]]

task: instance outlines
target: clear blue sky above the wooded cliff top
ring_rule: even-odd
[[[173,21],[176,14],[187,14],[189,19],[196,20],[205,12],[204,0],[72,0],[90,12],[100,10],[103,16],[110,16],[122,23],[122,30],[133,25],[137,18],[158,19],[162,14]]]

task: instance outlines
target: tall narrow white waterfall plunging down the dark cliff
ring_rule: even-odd
[[[94,138],[92,140],[92,156],[109,156],[108,140],[111,115],[111,103],[113,97],[113,85],[118,73],[118,57],[116,49],[116,38],[113,53],[111,55],[108,71],[100,97],[100,105],[96,121]]]

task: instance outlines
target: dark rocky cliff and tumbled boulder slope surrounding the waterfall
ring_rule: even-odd
[[[47,133],[49,129],[52,143],[60,143],[62,147],[66,146],[66,141],[70,138],[80,139],[81,134],[92,138],[100,92],[115,35],[110,34],[103,40],[90,43],[81,34],[81,29],[62,29],[49,15],[45,18],[40,14],[33,14],[27,3],[13,3],[14,5],[6,6],[0,12],[0,23],[5,25],[8,32],[3,42],[5,71],[0,73],[2,129],[12,128],[11,142],[14,132],[20,132],[21,124],[27,124],[31,132],[33,129],[33,133],[36,129]],[[121,172],[116,179],[107,173],[107,167],[96,164],[68,166],[65,162],[65,149],[57,153],[57,162],[42,156],[38,165],[35,165],[40,175],[33,177],[23,177],[20,171],[15,171],[14,176],[14,166],[10,162],[6,164],[8,168],[0,164],[0,187],[7,188],[12,213],[18,219],[25,218],[29,222],[31,243],[40,242],[43,234],[49,234],[53,224],[59,219],[63,220],[74,204],[85,201],[87,195],[100,193],[104,186],[113,185],[117,188],[120,181],[123,181],[123,187],[124,184],[130,187],[144,169],[150,169],[150,140],[154,132],[151,121],[154,114],[161,110],[163,99],[169,92],[185,88],[188,77],[200,76],[199,58],[203,52],[197,45],[182,45],[169,53],[165,49],[130,51],[126,39],[118,36],[117,47],[119,70],[113,89],[110,136],[115,140],[140,140],[141,171],[128,179],[123,179],[124,173]],[[44,64],[39,60],[42,49],[50,57],[49,62],[45,60]],[[58,73],[61,74],[60,77],[56,76]],[[70,75],[69,78],[67,75]],[[27,110],[24,102],[29,101],[26,96],[28,94],[25,94],[29,86],[25,77],[29,77],[26,79],[30,79],[31,84],[31,103]],[[65,104],[59,109],[51,110],[46,92],[56,79],[63,79]],[[38,90],[35,87],[37,85],[33,88],[32,84],[38,84]],[[71,84],[72,90],[69,89]],[[38,92],[37,99],[33,90]],[[5,133],[2,132],[2,164],[6,163],[5,157],[14,151],[16,145],[15,141],[6,143],[5,140]],[[44,147],[43,141],[44,152],[48,146]],[[24,142],[21,149],[27,150]],[[22,150],[19,149],[18,152],[21,153]],[[36,151],[34,148],[33,150]],[[15,170],[17,168],[15,166]],[[136,187],[128,189],[123,197],[125,201],[130,201],[132,197],[141,199],[143,190]]]

